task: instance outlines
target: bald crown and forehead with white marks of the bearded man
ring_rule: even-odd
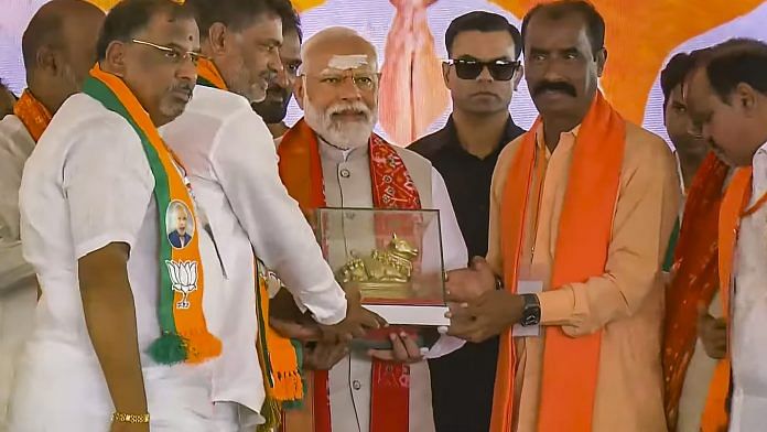
[[[352,29],[325,29],[301,47],[302,72],[316,74],[326,68],[378,72],[376,47]]]

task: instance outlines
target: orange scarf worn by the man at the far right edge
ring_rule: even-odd
[[[732,295],[733,262],[737,235],[741,228],[741,219],[747,217],[765,204],[767,194],[761,196],[750,208],[748,202],[752,195],[752,168],[741,168],[733,175],[727,192],[722,199],[719,223],[719,272],[720,272],[720,299],[722,312],[727,323],[727,334],[731,331],[730,298]],[[731,350],[727,343],[727,356],[720,360],[714,370],[714,376],[709,387],[709,396],[701,419],[702,432],[723,432],[727,430],[730,422],[727,398],[731,384]]]

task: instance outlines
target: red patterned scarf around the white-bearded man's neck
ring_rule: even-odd
[[[375,208],[421,208],[421,199],[399,153],[377,134],[369,142],[370,180]],[[278,149],[280,177],[304,214],[325,206],[322,161],[314,131],[302,119],[284,134]],[[392,361],[372,360],[370,432],[408,432],[410,368]],[[331,432],[328,374],[314,372],[314,424]]]

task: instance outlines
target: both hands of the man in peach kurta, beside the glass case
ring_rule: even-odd
[[[449,271],[445,290],[451,336],[479,343],[501,334],[522,317],[522,298],[496,289],[496,276],[482,257],[475,257],[466,269]]]

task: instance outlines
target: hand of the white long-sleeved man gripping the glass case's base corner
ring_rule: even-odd
[[[322,325],[323,342],[347,343],[355,337],[363,337],[368,330],[386,326],[386,320],[361,306],[361,295],[356,287],[347,287],[346,317],[338,324]]]

